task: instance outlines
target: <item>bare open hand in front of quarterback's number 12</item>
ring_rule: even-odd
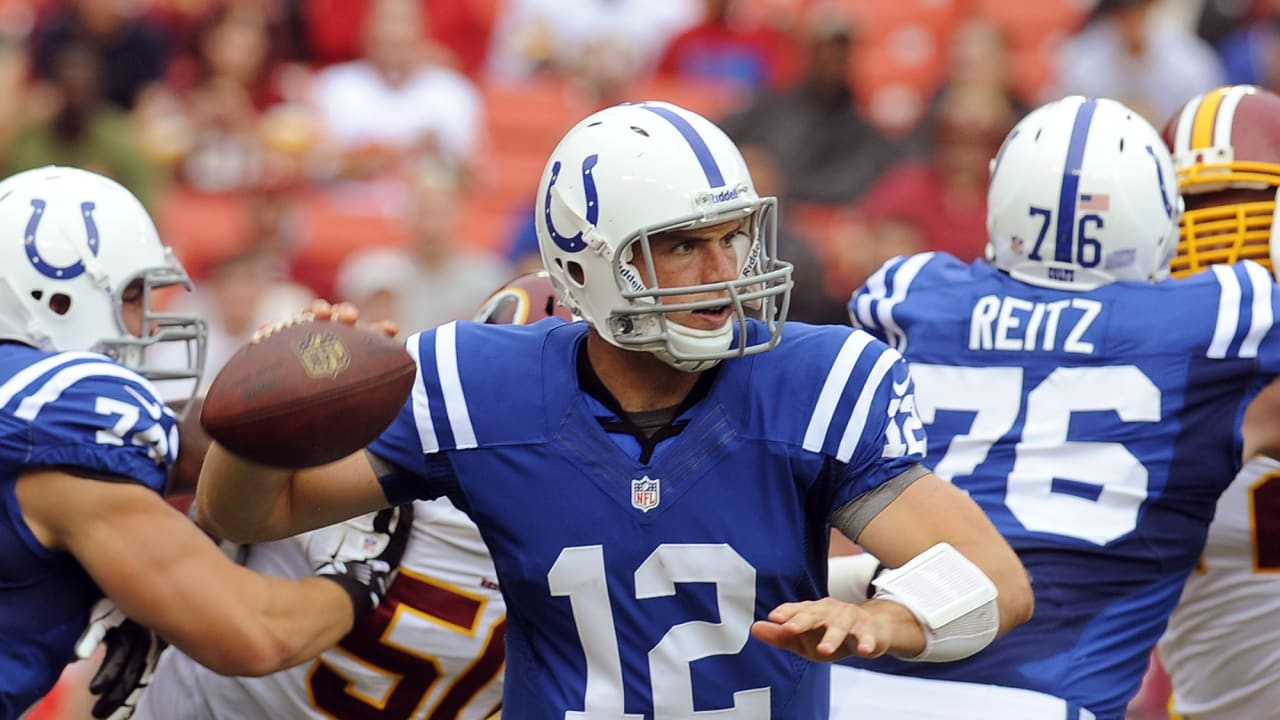
[[[780,605],[751,625],[751,635],[814,662],[879,657],[890,648],[890,632],[876,615],[833,597]]]

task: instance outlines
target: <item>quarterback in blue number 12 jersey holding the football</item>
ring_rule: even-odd
[[[828,666],[787,651],[947,660],[1027,619],[1007,543],[919,464],[899,354],[783,332],[773,199],[719,128],[602,110],[557,146],[536,215],[582,322],[410,337],[412,397],[367,452],[274,471],[215,443],[205,521],[260,541],[451,497],[507,600],[507,720],[824,719]],[[886,597],[824,597],[832,524],[901,566]]]

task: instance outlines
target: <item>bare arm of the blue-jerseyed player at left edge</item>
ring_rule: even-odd
[[[70,552],[120,611],[219,673],[274,673],[351,629],[351,596],[337,583],[236,565],[143,486],[44,470],[18,489],[44,544]]]

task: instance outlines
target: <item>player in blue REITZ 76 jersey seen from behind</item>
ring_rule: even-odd
[[[1146,120],[1066,97],[992,161],[989,261],[897,258],[854,293],[910,363],[927,464],[1009,538],[1036,618],[959,662],[851,661],[833,717],[1124,716],[1240,466],[1243,404],[1280,372],[1266,269],[1167,279],[1181,208]]]

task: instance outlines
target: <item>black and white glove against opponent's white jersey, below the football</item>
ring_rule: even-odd
[[[387,597],[399,571],[413,525],[413,503],[320,528],[307,536],[307,557],[316,575],[351,593],[356,620]]]

